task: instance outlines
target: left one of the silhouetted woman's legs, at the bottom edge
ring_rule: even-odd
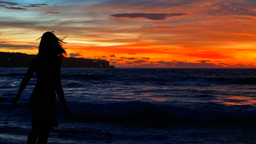
[[[37,137],[39,135],[39,117],[31,114],[32,129],[28,135],[27,144],[36,144]]]

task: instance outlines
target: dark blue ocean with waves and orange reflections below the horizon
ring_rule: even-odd
[[[32,77],[0,68],[0,143],[26,143]],[[61,68],[70,117],[57,99],[48,144],[255,144],[255,69]]]

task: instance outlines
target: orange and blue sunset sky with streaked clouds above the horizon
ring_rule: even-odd
[[[37,54],[46,31],[68,55],[115,67],[255,68],[256,0],[0,1],[0,51]]]

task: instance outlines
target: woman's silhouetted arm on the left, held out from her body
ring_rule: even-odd
[[[33,76],[34,73],[35,73],[35,70],[34,70],[33,60],[32,60],[30,62],[30,65],[28,67],[28,71],[27,71],[25,77],[22,79],[21,84],[19,85],[18,93],[17,93],[17,95],[15,96],[15,98],[12,101],[12,107],[15,106],[15,104],[17,103],[17,101],[21,97],[21,93],[26,88],[28,82],[30,81],[30,79],[31,79],[31,77]]]

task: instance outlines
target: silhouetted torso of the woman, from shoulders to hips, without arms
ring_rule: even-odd
[[[37,77],[29,100],[31,113],[42,117],[52,116],[55,114],[55,84],[60,77],[60,63],[36,57],[31,61],[31,66]]]

